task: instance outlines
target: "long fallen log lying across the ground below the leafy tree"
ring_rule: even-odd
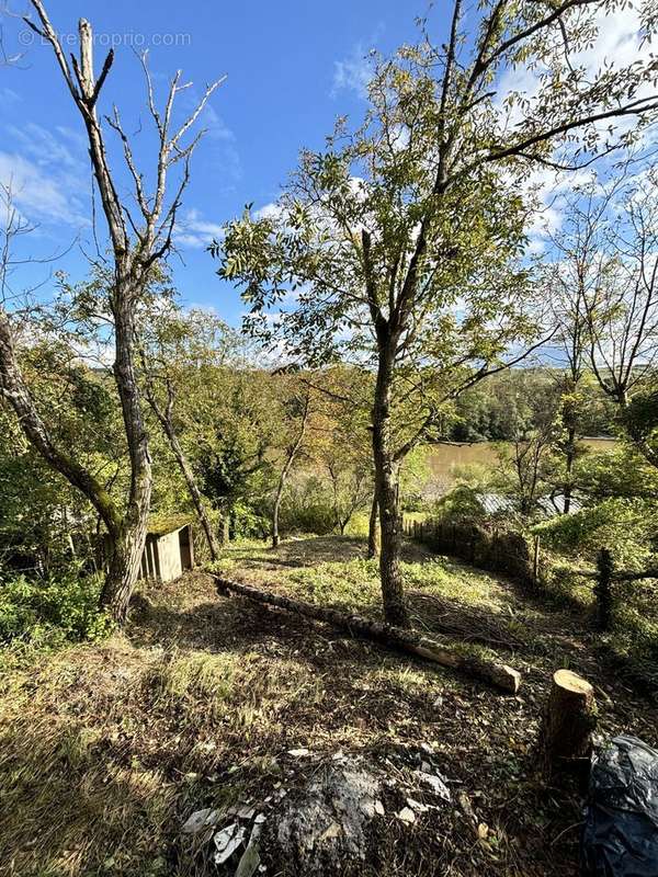
[[[413,630],[404,630],[400,627],[374,622],[361,615],[345,615],[338,610],[318,606],[315,603],[307,603],[303,600],[292,600],[282,594],[259,591],[257,588],[252,588],[249,584],[235,582],[231,579],[224,579],[216,573],[211,573],[211,576],[216,582],[217,592],[220,594],[231,592],[240,594],[257,603],[276,606],[277,608],[292,612],[295,615],[302,615],[306,618],[313,618],[316,622],[325,622],[326,624],[333,625],[333,627],[338,627],[341,630],[347,630],[351,636],[373,639],[385,646],[411,652],[428,661],[441,664],[442,667],[450,667],[453,670],[488,682],[498,688],[502,688],[502,691],[512,694],[519,691],[521,673],[507,664],[487,661],[474,654],[463,654],[433,639],[420,636]]]

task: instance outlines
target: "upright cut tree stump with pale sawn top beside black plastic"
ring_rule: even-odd
[[[580,772],[589,765],[597,702],[589,682],[570,670],[553,674],[540,731],[538,756],[544,774]]]

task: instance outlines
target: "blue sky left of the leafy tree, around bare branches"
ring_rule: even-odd
[[[179,68],[185,80],[194,82],[181,99],[181,110],[208,81],[227,75],[204,113],[208,130],[195,153],[180,213],[178,247],[184,264],[173,257],[171,265],[188,305],[214,307],[234,324],[239,322],[239,298],[215,276],[205,243],[247,202],[260,207],[274,201],[295,168],[299,148],[320,147],[337,115],[359,118],[365,106],[360,93],[364,56],[371,47],[389,52],[413,39],[415,16],[427,11],[423,3],[399,0],[118,0],[112,4],[50,0],[47,7],[65,42],[75,39],[81,15],[91,21],[97,66],[103,46],[117,43],[101,110],[109,112],[116,102],[127,132],[141,126],[135,152],[145,170],[154,150],[133,47],[149,48],[160,95],[167,77]],[[13,0],[11,8],[24,12],[26,2]],[[434,32],[440,31],[442,16],[433,18]],[[18,18],[4,15],[3,32],[5,52],[23,54],[13,67],[0,68],[0,179],[12,178],[22,214],[38,224],[24,243],[31,254],[43,258],[75,242],[50,267],[63,267],[71,278],[81,280],[88,270],[83,252],[93,251],[81,119],[49,48]],[[111,132],[107,140],[116,145]],[[121,169],[118,151],[112,152],[112,160]],[[100,229],[104,231],[101,225]],[[25,282],[43,280],[47,273],[44,265],[32,266],[25,270]],[[16,277],[14,285],[19,283]],[[48,295],[50,288],[46,283],[39,295]]]

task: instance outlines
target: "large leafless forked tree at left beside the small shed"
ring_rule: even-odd
[[[131,486],[125,503],[118,504],[103,485],[53,440],[47,418],[37,409],[21,374],[11,315],[4,309],[0,312],[0,388],[30,442],[53,468],[84,493],[101,516],[110,543],[101,603],[121,624],[127,616],[131,594],[139,572],[152,481],[148,436],[135,365],[136,309],[155,266],[171,248],[177,210],[189,181],[190,158],[201,136],[197,134],[191,141],[185,143],[186,135],[219,81],[206,89],[192,114],[180,127],[174,127],[172,126],[174,100],[189,87],[189,83],[181,83],[179,71],[171,80],[164,110],[160,112],[156,106],[146,58],[143,57],[148,105],[158,135],[156,182],[152,192],[147,191],[144,175],[137,169],[118,110],[114,107],[112,116],[105,117],[106,123],[121,139],[126,167],[133,181],[138,209],[137,216],[133,216],[131,208],[120,198],[107,158],[104,128],[97,112],[99,98],[112,68],[114,53],[111,50],[107,54],[97,77],[91,25],[81,19],[80,54],[79,57],[71,56],[69,64],[44,4],[41,0],[32,0],[32,7],[38,25],[30,20],[26,20],[26,23],[50,46],[59,72],[82,118],[93,176],[107,225],[111,249],[107,271],[111,282],[106,291],[106,304],[114,330],[113,373],[121,400],[131,464]],[[174,164],[179,164],[182,170],[173,195],[168,197],[168,176]]]

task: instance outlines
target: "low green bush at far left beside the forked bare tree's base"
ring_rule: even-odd
[[[100,576],[0,578],[0,642],[50,647],[100,639],[112,623],[99,611]]]

